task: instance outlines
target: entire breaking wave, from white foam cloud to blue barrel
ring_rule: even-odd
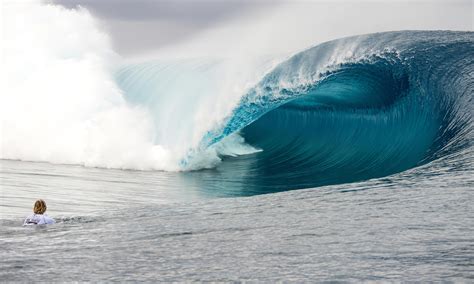
[[[35,9],[69,13],[59,23],[91,20],[86,11],[53,6],[35,7],[32,17]],[[59,37],[64,31],[56,26],[48,33]],[[35,31],[10,37],[22,33],[28,39]],[[472,32],[355,36],[276,66],[265,58],[246,68],[222,59],[109,68],[114,55],[103,34],[80,46],[89,35],[86,29],[33,54],[12,44],[9,52],[19,56],[7,57],[3,93],[16,97],[2,98],[1,158],[217,167],[227,180],[239,177],[265,192],[381,177],[472,147]]]

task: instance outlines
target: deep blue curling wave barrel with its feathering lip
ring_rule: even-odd
[[[472,147],[473,78],[472,32],[327,42],[268,73],[202,147],[239,132],[262,149],[221,166],[258,193],[390,175]]]

